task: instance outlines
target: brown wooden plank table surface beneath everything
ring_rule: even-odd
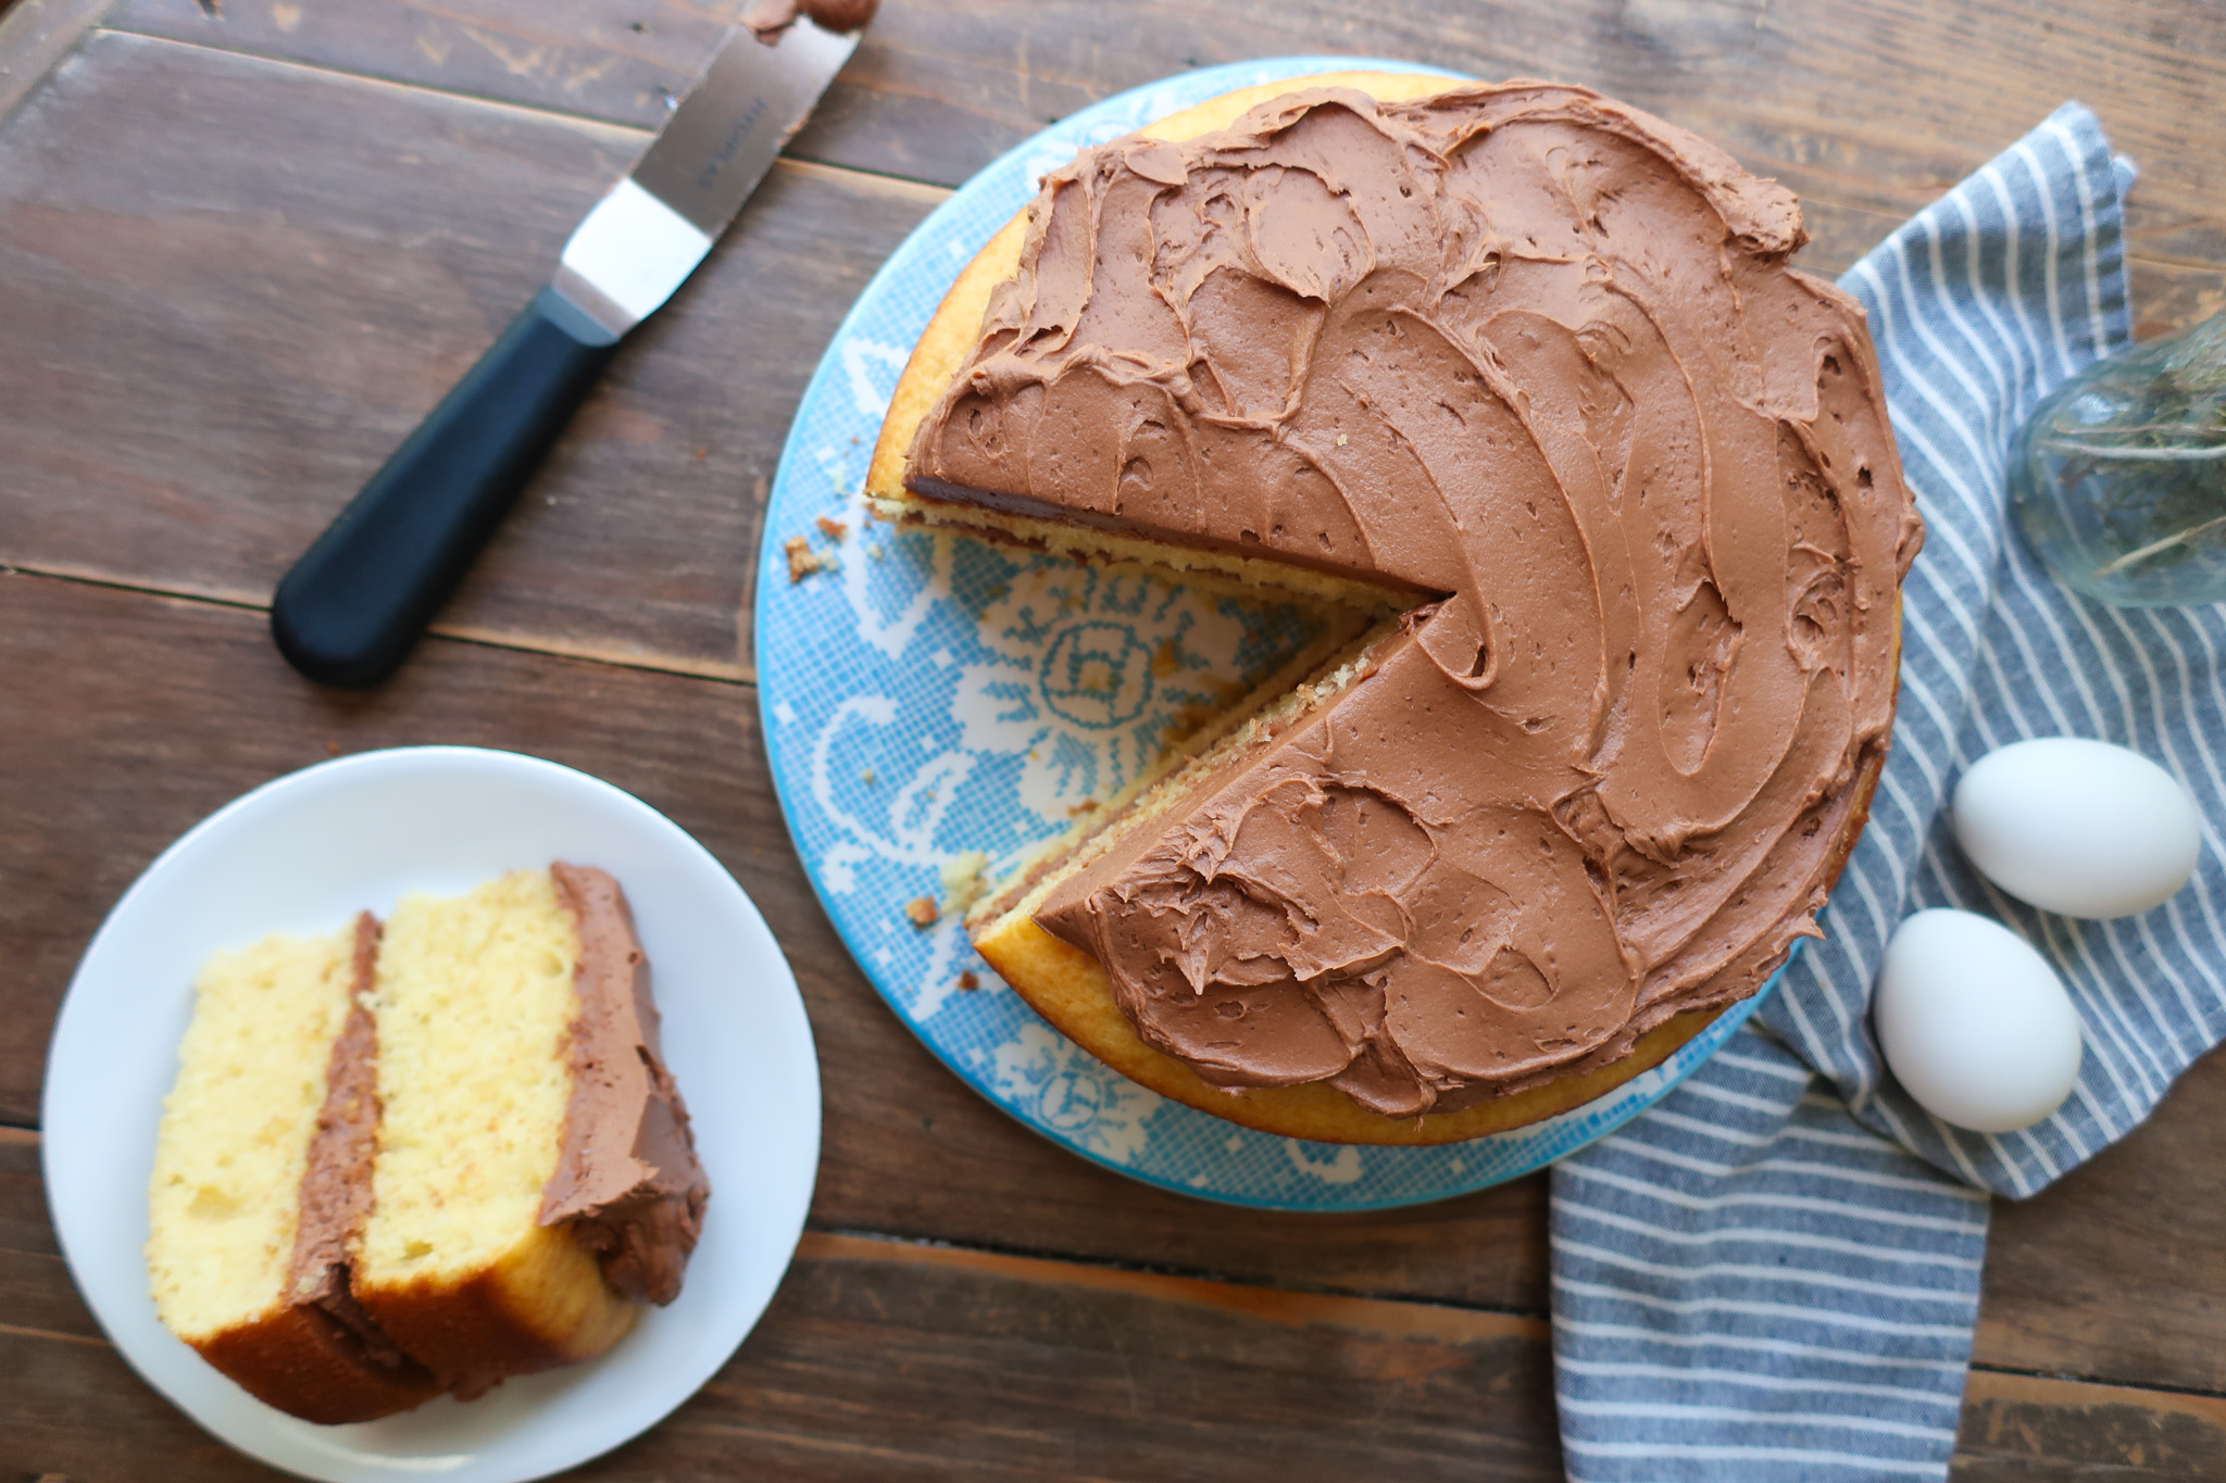
[[[38,1178],[47,1032],[196,818],[365,747],[605,776],[757,898],[826,1156],[770,1314],[590,1479],[1556,1479],[1545,1183],[1284,1216],[1035,1138],[884,1009],[775,807],[750,574],[866,276],[1075,107],[1289,51],[1589,82],[1792,185],[1836,271],[2064,98],[2141,165],[2144,334],[2226,305],[2215,0],[886,0],[385,689],[272,583],[548,273],[735,0],[20,0],[0,20],[0,1483],[274,1476],[109,1350]],[[735,1196],[730,1196],[735,1198]],[[2226,1063],[1986,1265],[1959,1479],[2226,1476]]]

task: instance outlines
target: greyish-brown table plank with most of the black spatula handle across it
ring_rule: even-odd
[[[0,560],[267,600],[641,142],[96,36],[0,125]],[[619,354],[441,629],[746,674],[737,625],[797,396],[937,198],[777,169]]]

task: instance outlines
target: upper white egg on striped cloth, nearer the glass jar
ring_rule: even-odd
[[[2075,736],[1988,752],[1957,783],[1952,823],[1988,880],[2064,916],[2148,912],[2188,883],[2204,847],[2173,774]]]

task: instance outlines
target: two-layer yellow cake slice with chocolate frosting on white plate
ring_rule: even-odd
[[[679,1294],[708,1198],[617,880],[514,872],[220,954],[149,1198],[162,1321],[309,1421],[608,1350]]]

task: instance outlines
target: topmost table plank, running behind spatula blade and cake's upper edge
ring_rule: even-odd
[[[114,24],[654,122],[703,0],[125,0]],[[639,29],[637,29],[639,27]],[[2064,98],[2144,167],[2139,245],[2226,260],[2226,11],[2202,0],[888,0],[795,151],[957,185],[1113,91],[1275,53],[1587,82],[1803,196],[1914,211]]]

